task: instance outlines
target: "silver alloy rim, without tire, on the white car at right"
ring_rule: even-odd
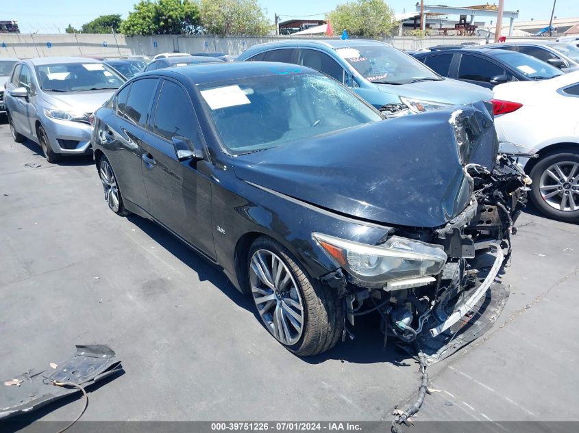
[[[579,163],[554,163],[541,174],[539,191],[547,205],[558,211],[579,210]]]

